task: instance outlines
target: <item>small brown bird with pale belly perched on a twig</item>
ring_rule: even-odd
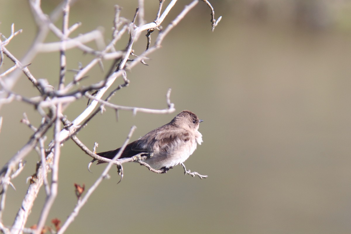
[[[130,158],[139,153],[152,153],[151,158],[142,161],[153,169],[167,171],[187,160],[194,153],[197,144],[201,145],[202,134],[198,129],[202,121],[193,112],[184,110],[177,114],[171,122],[129,143],[119,159]],[[120,149],[97,153],[97,155],[113,159]],[[101,163],[105,161],[98,160],[97,164]]]

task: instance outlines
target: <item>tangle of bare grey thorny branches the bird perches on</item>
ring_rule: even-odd
[[[113,20],[113,32],[112,39],[105,45],[105,39],[99,30],[93,30],[84,34],[80,34],[75,38],[70,38],[69,35],[77,30],[81,23],[74,23],[69,26],[69,12],[71,4],[75,0],[64,0],[51,15],[47,15],[42,11],[41,1],[32,0],[29,1],[29,6],[31,7],[33,17],[38,26],[38,33],[32,42],[32,46],[26,52],[26,55],[22,59],[17,59],[6,46],[11,43],[15,36],[22,33],[22,30],[15,31],[14,24],[11,25],[11,35],[7,38],[0,33],[2,38],[0,39],[0,67],[4,64],[4,60],[8,59],[13,63],[13,66],[8,68],[6,71],[0,74],[0,108],[2,105],[7,105],[14,100],[25,102],[32,105],[35,110],[40,114],[42,121],[39,126],[34,126],[31,124],[26,115],[22,119],[22,123],[31,128],[34,133],[29,137],[28,142],[15,154],[12,158],[1,168],[0,170],[0,185],[1,185],[1,200],[0,200],[0,230],[3,233],[23,233],[25,230],[33,233],[41,233],[45,228],[45,223],[48,214],[51,210],[53,202],[55,201],[58,192],[58,174],[59,174],[59,160],[60,160],[60,147],[62,144],[68,140],[72,139],[84,152],[92,156],[94,160],[104,160],[108,162],[107,167],[104,172],[99,176],[94,185],[88,189],[87,193],[79,197],[78,203],[74,208],[73,212],[68,216],[68,219],[64,222],[63,226],[58,233],[63,233],[67,229],[70,223],[73,222],[74,218],[78,215],[80,208],[86,203],[87,199],[97,188],[104,178],[108,177],[108,171],[113,164],[117,165],[118,172],[123,177],[123,167],[122,163],[136,161],[141,165],[146,166],[149,170],[155,173],[165,173],[163,169],[155,170],[143,162],[143,159],[151,157],[152,154],[140,153],[132,158],[118,159],[119,155],[122,153],[120,151],[114,159],[102,158],[91,152],[83,143],[81,143],[75,136],[81,129],[87,125],[87,123],[99,112],[105,110],[105,107],[110,107],[115,110],[116,116],[118,118],[118,111],[120,110],[130,110],[133,114],[137,112],[146,113],[171,113],[174,109],[174,104],[170,101],[170,92],[168,90],[166,95],[167,108],[165,109],[148,109],[139,107],[125,107],[110,103],[111,97],[119,89],[127,87],[130,81],[127,79],[126,71],[130,70],[139,62],[144,63],[147,56],[152,52],[160,48],[160,45],[165,38],[165,36],[184,18],[184,16],[198,3],[198,0],[192,1],[189,5],[186,5],[181,11],[181,13],[167,26],[165,29],[160,30],[161,24],[167,17],[168,13],[176,4],[177,0],[171,0],[162,12],[164,0],[160,0],[159,8],[156,13],[155,20],[150,23],[145,22],[145,8],[144,1],[138,0],[139,7],[135,12],[132,21],[127,20],[120,16],[121,7],[115,6],[115,15]],[[212,31],[214,27],[217,26],[221,17],[217,20],[214,18],[214,10],[210,2],[204,1],[211,9],[211,22]],[[57,27],[54,23],[62,16],[62,28]],[[138,19],[138,25],[136,23]],[[157,30],[156,30],[157,29]],[[147,45],[146,50],[140,55],[135,55],[133,46],[138,40],[142,32],[146,31]],[[151,34],[155,31],[159,31],[155,38],[154,45],[151,46]],[[51,32],[57,36],[58,40],[54,42],[45,42],[48,33]],[[115,45],[121,40],[122,36],[126,33],[129,34],[129,40],[126,44],[124,50],[117,51]],[[95,50],[86,44],[88,42],[94,41],[99,50]],[[72,48],[78,48],[85,54],[90,54],[93,56],[92,60],[88,62],[85,66],[79,65],[73,79],[69,81],[67,79],[67,58],[66,51]],[[51,53],[59,52],[60,54],[60,73],[58,75],[59,79],[56,81],[58,84],[57,89],[53,85],[50,85],[48,80],[37,79],[35,75],[29,70],[28,66],[35,62],[34,59],[39,53]],[[131,59],[130,56],[134,55],[135,58]],[[88,72],[95,65],[99,65],[103,69],[103,61],[113,59],[114,63],[106,73],[106,76],[96,83],[91,83],[88,86],[80,86],[79,82],[88,77]],[[117,65],[117,68],[116,68]],[[38,90],[38,96],[25,97],[22,94],[16,94],[13,92],[14,85],[19,81],[21,73],[24,73],[28,80],[34,85]],[[115,84],[115,80],[122,76],[123,82],[119,85]],[[107,98],[102,99],[102,96],[107,92],[107,90],[115,85],[117,88],[113,89]],[[91,95],[90,93],[93,93]],[[95,95],[94,95],[95,94]],[[64,116],[65,108],[72,102],[86,97],[91,100],[87,108],[75,118],[73,121],[67,120]],[[3,124],[3,119],[0,116],[0,131]],[[63,128],[61,126],[63,123]],[[47,132],[49,129],[53,128],[54,134],[52,141],[49,143],[47,148],[45,148],[45,139],[47,137]],[[125,141],[123,147],[126,146],[134,127],[131,129],[128,138]],[[11,180],[15,178],[25,165],[25,157],[33,149],[36,149],[40,155],[40,161],[37,163],[37,168],[35,173],[28,178],[30,184],[27,193],[22,201],[20,209],[14,218],[14,222],[11,227],[6,227],[2,222],[2,215],[4,214],[5,203],[6,203],[6,192],[8,186],[14,188]],[[181,164],[184,168],[185,174],[190,174],[192,176],[199,176],[199,178],[206,178],[198,174],[197,172],[190,172],[186,170],[184,164]],[[50,182],[47,179],[48,173],[51,172]],[[38,217],[38,222],[32,229],[26,228],[26,222],[28,215],[31,213],[33,203],[37,198],[39,189],[44,184],[46,191],[46,201],[42,207],[42,212]]]

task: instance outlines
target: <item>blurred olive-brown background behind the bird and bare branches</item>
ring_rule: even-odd
[[[188,2],[178,1],[166,22]],[[177,112],[133,116],[121,111],[116,121],[114,111],[107,108],[78,134],[88,147],[96,141],[98,151],[106,151],[119,147],[132,125],[137,126],[134,140],[189,109],[205,120],[199,128],[204,142],[185,165],[208,178],[184,176],[180,166],[155,174],[130,163],[117,185],[119,176],[112,169],[111,179],[95,191],[67,233],[351,232],[351,1],[211,3],[216,18],[223,16],[214,32],[210,10],[199,2],[162,48],[150,55],[149,66],[140,64],[128,72],[130,86],[111,101],[161,109],[171,87]],[[49,14],[59,1],[42,4]],[[133,17],[136,0],[77,1],[70,22],[80,21],[82,26],[73,35],[103,27],[106,40],[110,39],[115,4],[123,7],[122,16]],[[150,22],[158,1],[145,1],[145,6]],[[0,21],[6,36],[12,23],[15,29],[24,29],[7,46],[22,58],[36,32],[27,2],[0,0]],[[48,41],[55,40],[49,36]],[[124,48],[126,40],[117,48]],[[135,53],[145,46],[141,36]],[[73,49],[67,59],[68,69],[76,69],[79,61],[85,65],[92,57]],[[58,62],[58,53],[40,54],[29,68],[36,78],[57,85]],[[97,67],[85,82],[103,76]],[[14,90],[37,95],[25,76]],[[85,107],[86,100],[69,106],[68,119]],[[1,166],[32,134],[19,123],[23,112],[38,126],[40,118],[24,103],[1,109]],[[26,160],[24,172],[13,180],[16,191],[8,191],[4,213],[8,225],[26,192],[26,177],[34,173],[37,153]],[[100,175],[105,166],[94,165],[90,173],[90,160],[72,141],[64,144],[59,194],[49,220],[64,221],[71,213],[77,201],[74,183],[88,188]],[[37,223],[44,200],[42,190],[27,226]]]

